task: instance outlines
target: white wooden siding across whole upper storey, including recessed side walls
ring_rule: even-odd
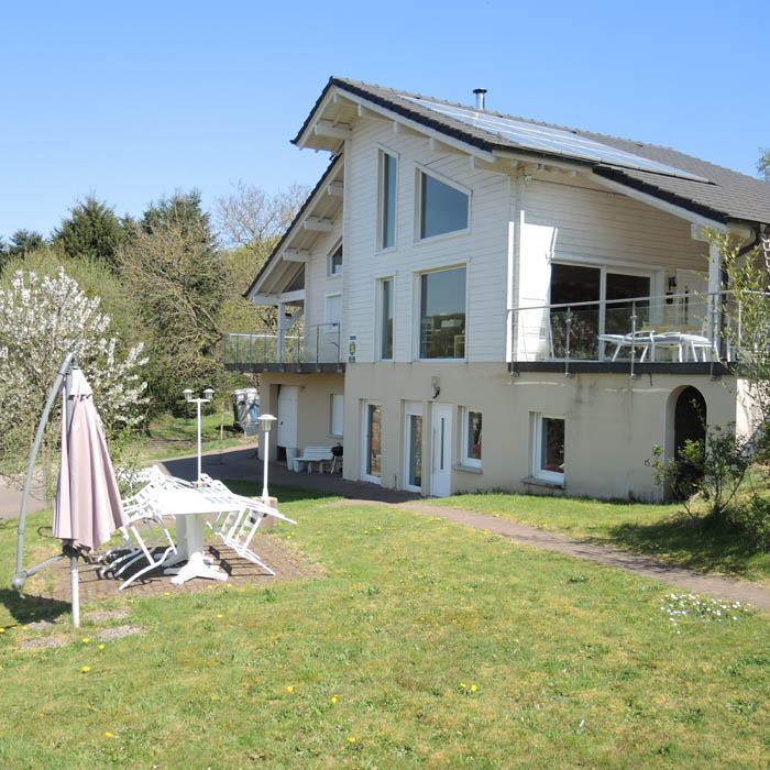
[[[398,158],[396,245],[385,252],[377,248],[382,150]],[[508,233],[513,220],[515,237],[524,246],[520,264],[514,268],[518,285],[510,293],[516,304],[546,301],[540,294],[530,296],[528,289],[535,283],[541,284],[544,275],[539,262],[532,262],[528,254],[531,239],[526,238],[526,229],[530,226],[532,232],[558,233],[551,256],[557,261],[638,264],[660,270],[667,276],[675,275],[678,270],[701,271],[706,266],[705,246],[692,240],[688,222],[583,176],[536,173],[528,184],[514,185],[507,176],[472,168],[465,155],[431,152],[427,139],[395,133],[393,123],[373,119],[359,121],[353,139],[345,142],[345,154],[343,277],[327,275],[328,254],[342,234],[340,218],[336,232],[318,240],[306,265],[305,323],[310,328],[324,322],[324,297],[341,290],[344,283],[340,343],[344,353],[348,336],[355,334],[359,362],[378,358],[378,278],[394,278],[394,361],[413,361],[417,358],[419,334],[417,276],[422,271],[459,264],[468,266],[468,360],[506,361]],[[468,232],[421,243],[416,240],[418,165],[471,190]],[[516,232],[521,227],[524,239]]]

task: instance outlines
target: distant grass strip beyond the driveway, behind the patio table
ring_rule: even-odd
[[[144,436],[136,439],[142,460],[163,460],[191,454],[198,451],[198,419],[193,409],[193,417],[172,417],[164,415],[153,420]],[[211,452],[228,447],[252,446],[254,437],[244,437],[232,427],[232,414],[224,415],[224,439],[220,441],[221,415],[204,415],[201,425],[201,450]]]

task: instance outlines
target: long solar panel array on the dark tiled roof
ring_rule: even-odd
[[[525,123],[513,118],[501,118],[498,116],[480,112],[471,108],[455,107],[453,105],[441,105],[428,99],[404,96],[404,99],[425,107],[433,112],[453,118],[462,123],[472,125],[474,129],[485,131],[501,139],[507,139],[521,147],[529,150],[541,150],[548,153],[564,155],[566,157],[579,157],[587,161],[598,161],[612,166],[625,166],[627,168],[639,168],[646,172],[658,172],[670,176],[681,176],[688,179],[707,182],[701,176],[673,168],[646,157],[627,153],[623,150],[610,147],[593,139],[581,136],[569,131],[552,129],[546,125]]]

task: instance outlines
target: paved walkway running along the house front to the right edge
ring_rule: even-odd
[[[165,466],[174,475],[194,479],[197,473],[197,458],[170,460],[165,463]],[[251,479],[255,482],[262,482],[262,462],[257,461],[253,448],[226,451],[221,457],[218,454],[205,457],[204,471],[218,479]],[[686,570],[652,557],[575,540],[565,535],[537,529],[510,519],[449,508],[442,506],[438,499],[426,502],[413,493],[385,490],[376,484],[344,481],[337,474],[332,476],[328,473],[293,473],[280,463],[271,463],[268,479],[271,483],[328,492],[330,495],[340,495],[346,498],[336,505],[378,503],[415,510],[427,516],[442,516],[469,527],[488,529],[495,535],[502,535],[527,546],[564,553],[575,559],[586,559],[645,578],[652,578],[682,591],[711,594],[733,602],[748,602],[758,609],[770,610],[770,587],[749,581]]]

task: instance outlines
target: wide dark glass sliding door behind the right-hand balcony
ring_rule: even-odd
[[[631,315],[636,328],[649,322],[649,300],[600,304],[600,300],[624,300],[649,297],[650,276],[620,273],[605,267],[553,264],[551,267],[551,305],[594,302],[551,310],[553,355],[565,358],[569,328],[571,359],[600,358],[600,334],[628,334]]]

